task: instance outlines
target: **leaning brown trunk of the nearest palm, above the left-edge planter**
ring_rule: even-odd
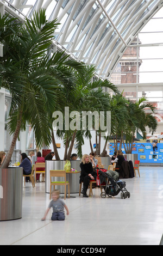
[[[1,165],[1,168],[8,168],[8,166],[9,166],[12,154],[13,154],[14,149],[15,149],[15,144],[16,144],[19,132],[20,132],[21,121],[22,121],[22,111],[20,111],[20,116],[17,119],[16,129],[15,129],[15,132],[14,132],[14,136],[12,137],[12,142],[11,142],[11,145],[10,145],[10,149],[8,151],[7,156],[5,157],[4,162]]]

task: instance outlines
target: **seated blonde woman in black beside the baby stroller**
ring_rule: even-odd
[[[87,188],[90,184],[90,180],[95,180],[95,172],[93,171],[92,163],[89,155],[85,154],[82,157],[82,163],[80,163],[81,175],[80,183],[83,182],[83,197],[88,197],[86,194]]]

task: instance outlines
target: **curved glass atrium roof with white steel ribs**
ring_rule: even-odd
[[[46,9],[48,20],[60,23],[55,40],[78,59],[94,64],[110,77],[137,33],[157,13],[162,0],[10,0],[29,19]]]

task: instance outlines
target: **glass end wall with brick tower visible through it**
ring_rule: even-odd
[[[144,96],[155,106],[159,126],[163,119],[162,21],[163,9],[160,9],[137,34],[137,40],[124,53],[111,76],[111,82],[124,90],[124,96],[133,100]],[[139,47],[135,46],[138,44]]]

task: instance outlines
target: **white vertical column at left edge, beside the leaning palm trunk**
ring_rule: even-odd
[[[2,88],[0,90],[0,151],[4,151],[4,125],[5,125],[5,90]]]

